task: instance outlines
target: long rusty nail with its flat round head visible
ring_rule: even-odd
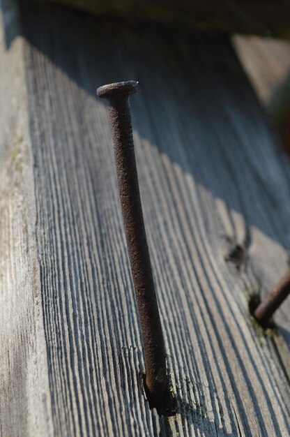
[[[151,408],[158,407],[166,387],[165,344],[142,213],[132,135],[129,96],[137,84],[117,82],[97,89],[109,102],[116,172],[130,267],[144,342],[145,390]]]

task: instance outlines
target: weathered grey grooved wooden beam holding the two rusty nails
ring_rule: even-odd
[[[20,21],[24,38],[1,53],[1,436],[287,437],[290,302],[266,333],[248,303],[287,269],[290,164],[230,43],[57,10]],[[96,98],[128,79],[172,417],[142,391]]]

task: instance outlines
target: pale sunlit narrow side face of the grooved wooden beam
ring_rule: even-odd
[[[23,42],[0,28],[0,435],[52,435]]]

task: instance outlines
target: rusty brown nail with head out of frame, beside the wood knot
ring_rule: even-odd
[[[273,290],[268,294],[264,302],[261,302],[254,310],[253,316],[262,327],[267,327],[271,316],[284,302],[290,293],[290,269],[282,276]]]

